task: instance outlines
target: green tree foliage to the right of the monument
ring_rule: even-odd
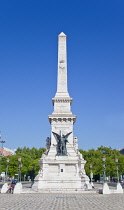
[[[100,174],[103,174],[102,157],[106,157],[106,175],[116,177],[116,163],[115,158],[118,158],[119,175],[124,174],[124,155],[120,154],[118,150],[111,147],[100,146],[97,150],[90,149],[88,151],[79,150],[87,161],[85,164],[86,174],[90,176],[90,164],[92,164],[92,172],[94,177],[99,179]]]

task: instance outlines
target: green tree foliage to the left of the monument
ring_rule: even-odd
[[[20,148],[18,147],[16,151],[16,155],[6,156],[1,158],[1,172],[6,172],[7,162],[6,159],[9,158],[8,164],[8,175],[10,177],[18,178],[18,170],[19,170],[19,162],[18,157],[21,157],[21,176],[22,179],[24,176],[31,178],[37,175],[40,165],[38,160],[41,158],[42,154],[45,152],[45,148],[32,148],[29,149],[27,147]],[[33,179],[32,178],[32,179]]]

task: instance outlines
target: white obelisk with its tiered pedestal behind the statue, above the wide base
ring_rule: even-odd
[[[71,112],[72,98],[68,93],[67,82],[67,45],[66,35],[62,32],[58,36],[58,75],[57,75],[57,92],[52,99],[54,111],[52,115],[49,115],[49,121],[51,124],[51,152],[55,152],[56,144],[55,136],[52,132],[66,134],[72,132],[69,136],[69,144],[73,144],[73,124],[76,120],[76,115]],[[67,145],[69,147],[69,145]],[[69,149],[69,148],[68,148]]]

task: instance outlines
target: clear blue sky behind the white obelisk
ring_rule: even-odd
[[[79,148],[124,147],[124,1],[0,1],[0,130],[5,147],[45,147],[67,35]]]

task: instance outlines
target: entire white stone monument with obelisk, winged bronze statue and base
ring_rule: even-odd
[[[78,139],[73,136],[76,115],[71,112],[72,98],[68,93],[66,35],[63,32],[58,36],[57,92],[52,103],[54,111],[48,116],[51,137],[46,140],[46,152],[39,160],[40,171],[32,188],[84,190],[89,178],[84,169],[86,161],[78,151]]]

